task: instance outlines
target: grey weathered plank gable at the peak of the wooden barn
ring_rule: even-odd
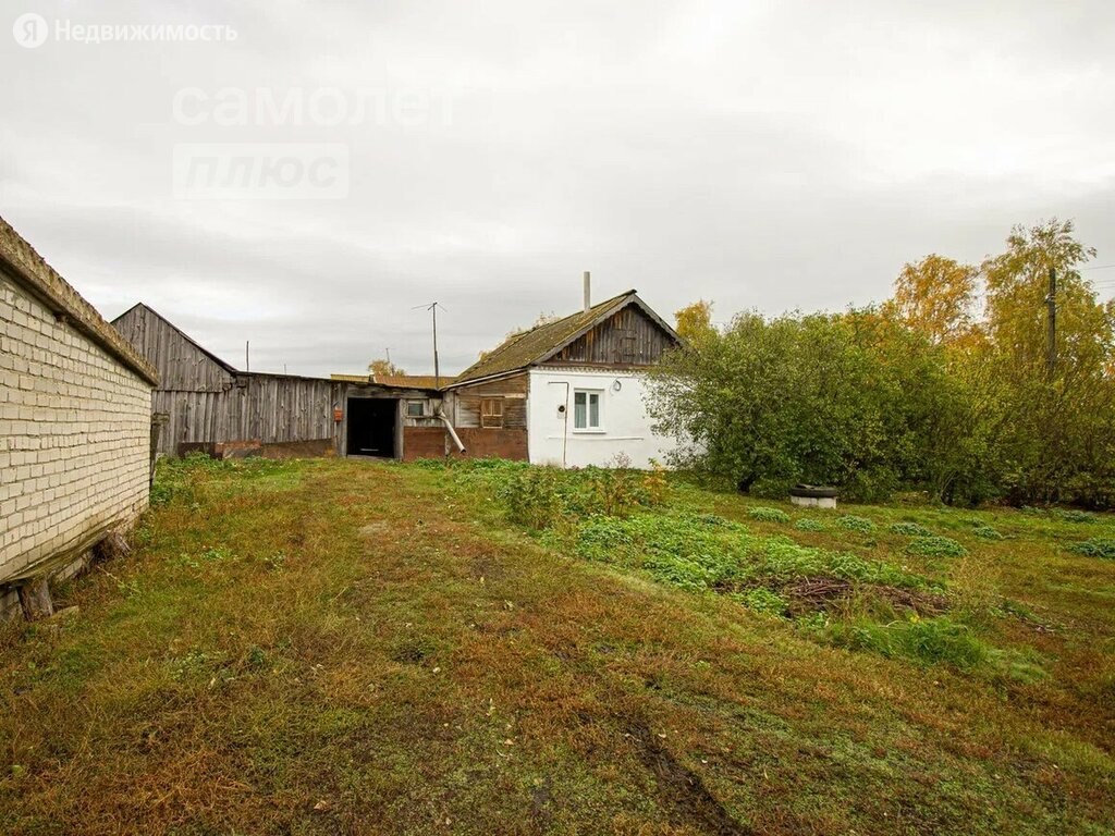
[[[146,305],[135,305],[113,325],[158,369],[161,390],[220,392],[232,383],[226,368]]]

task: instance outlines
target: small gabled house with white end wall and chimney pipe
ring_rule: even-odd
[[[642,372],[678,334],[634,290],[513,334],[445,387],[471,455],[584,467],[647,467],[675,447],[655,435]]]

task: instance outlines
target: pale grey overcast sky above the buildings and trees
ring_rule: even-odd
[[[1051,215],[1115,262],[1109,0],[4,11],[0,214],[107,318],[145,301],[237,366],[251,340],[259,370],[390,348],[426,371],[413,308],[438,300],[458,371],[576,310],[583,270],[598,300],[727,320],[880,300],[906,261],[978,261]],[[180,25],[236,39],[151,40]],[[227,171],[184,175],[210,144],[237,146]],[[275,174],[289,155],[306,177]]]

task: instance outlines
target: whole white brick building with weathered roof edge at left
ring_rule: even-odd
[[[155,369],[0,220],[0,614],[147,507]]]

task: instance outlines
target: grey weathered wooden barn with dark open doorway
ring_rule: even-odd
[[[113,324],[158,370],[153,404],[165,421],[159,455],[403,459],[423,453],[408,449],[411,429],[433,426],[446,434],[433,383],[241,371],[144,303]]]

